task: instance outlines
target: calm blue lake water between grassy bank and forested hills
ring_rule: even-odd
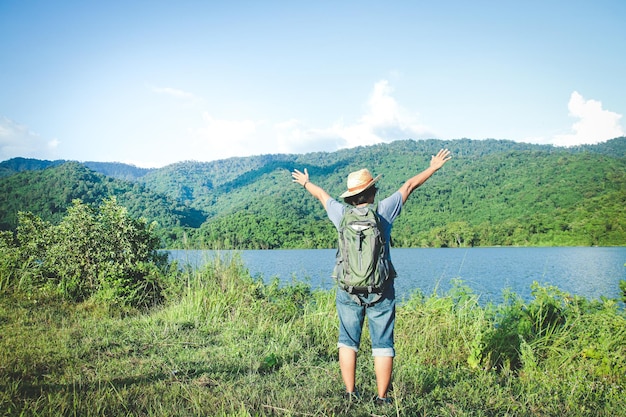
[[[200,267],[220,256],[239,254],[250,274],[268,282],[302,281],[331,288],[335,250],[169,251],[170,259]],[[399,298],[421,290],[447,291],[461,279],[483,301],[499,302],[509,289],[528,299],[533,281],[590,299],[619,298],[626,279],[626,247],[392,249]]]

